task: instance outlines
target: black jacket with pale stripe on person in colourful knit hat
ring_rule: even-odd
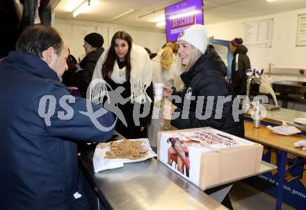
[[[237,95],[245,95],[246,94],[246,70],[250,69],[250,59],[246,55],[248,52],[248,48],[244,45],[237,47],[234,51],[234,58],[232,61],[232,83],[231,86],[236,92]],[[238,57],[238,70],[236,70],[236,56]]]

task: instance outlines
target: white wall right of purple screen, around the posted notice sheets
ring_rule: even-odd
[[[306,13],[306,8],[287,13],[239,19],[230,22],[207,25],[209,36],[220,40],[243,38],[243,22],[273,18],[273,41],[271,48],[249,48],[252,67],[267,69],[268,63],[275,68],[306,68],[306,47],[296,47],[298,14]],[[205,17],[204,17],[205,19]],[[248,47],[248,46],[247,46]]]

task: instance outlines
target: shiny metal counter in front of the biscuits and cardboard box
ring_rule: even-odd
[[[79,165],[106,209],[226,209],[156,159],[95,173],[94,151],[80,150]]]

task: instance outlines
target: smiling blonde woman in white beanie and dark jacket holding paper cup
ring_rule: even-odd
[[[178,55],[186,69],[181,74],[184,90],[164,87],[163,96],[176,98],[171,101],[177,108],[164,110],[163,118],[170,118],[172,126],[178,129],[213,127],[244,137],[243,114],[239,113],[239,102],[234,104],[236,93],[224,79],[223,60],[214,47],[207,45],[205,26],[193,25],[177,40]],[[188,103],[190,106],[184,107],[183,112],[183,105]]]

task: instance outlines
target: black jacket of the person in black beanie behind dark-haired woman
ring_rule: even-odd
[[[96,49],[87,54],[83,60],[81,60],[80,66],[83,70],[77,71],[73,75],[72,83],[79,88],[82,92],[82,97],[86,97],[86,91],[92,79],[93,71],[97,60],[102,55],[104,48]]]

